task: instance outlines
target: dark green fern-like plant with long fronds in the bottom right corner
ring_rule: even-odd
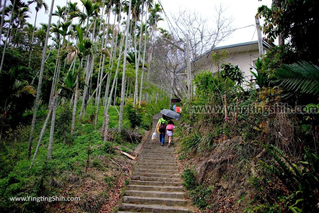
[[[294,213],[318,212],[319,156],[304,147],[305,161],[291,162],[286,153],[273,145],[264,146],[277,164],[268,169],[288,186],[292,194],[285,197],[286,208]],[[279,165],[279,167],[278,167]]]

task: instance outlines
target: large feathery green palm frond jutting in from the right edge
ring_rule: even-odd
[[[274,73],[272,83],[293,93],[318,95],[319,67],[309,62],[283,65]]]

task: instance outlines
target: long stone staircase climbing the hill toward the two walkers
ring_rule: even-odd
[[[186,213],[188,209],[178,172],[174,147],[151,140],[161,114],[153,117],[153,129],[145,142],[141,156],[125,191],[119,213],[157,212]],[[159,137],[159,136],[158,136]]]

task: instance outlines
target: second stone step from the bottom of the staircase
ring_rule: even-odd
[[[124,196],[124,203],[138,203],[147,205],[166,205],[166,206],[183,206],[186,204],[185,200],[176,198],[155,198],[155,197],[133,197]]]

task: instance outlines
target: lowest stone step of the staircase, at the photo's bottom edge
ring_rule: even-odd
[[[161,205],[145,205],[122,203],[119,210],[131,212],[156,212],[156,213],[187,213],[189,210],[184,207],[161,206]]]

